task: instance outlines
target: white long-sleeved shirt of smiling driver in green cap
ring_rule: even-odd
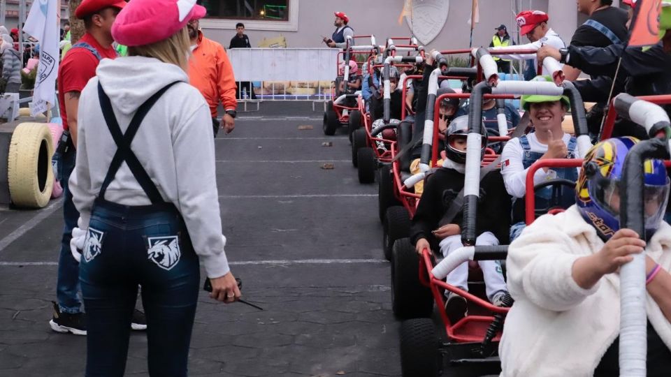
[[[541,144],[536,138],[535,133],[526,135],[529,141],[531,151],[544,154],[547,152],[547,145]],[[571,135],[564,133],[561,138],[564,144],[568,147],[568,142],[571,140]],[[522,160],[524,158],[524,148],[522,148],[519,138],[514,138],[505,144],[503,152],[501,153],[501,175],[503,175],[503,182],[505,189],[514,198],[523,198],[526,193],[526,173],[528,168],[524,168]],[[536,170],[533,175],[533,184],[540,184],[547,179],[556,178],[556,172],[548,169],[545,172],[543,169]]]

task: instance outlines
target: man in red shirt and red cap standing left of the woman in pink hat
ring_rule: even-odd
[[[58,70],[58,100],[67,141],[59,142],[57,148],[57,175],[64,189],[63,216],[65,226],[58,260],[57,304],[49,324],[56,332],[86,334],[86,318],[78,297],[79,265],[70,251],[72,229],[77,226],[79,212],[73,205],[68,180],[75,168],[75,147],[77,145],[77,112],[79,96],[101,59],[117,57],[112,43],[112,24],[119,11],[126,6],[123,0],[84,0],[75,10],[75,15],[84,20],[86,33],[71,47]],[[88,109],[82,109],[84,111]],[[141,318],[140,318],[141,320]],[[138,327],[139,325],[139,327]],[[136,323],[134,328],[146,327]]]

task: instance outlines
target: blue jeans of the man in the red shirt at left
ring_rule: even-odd
[[[55,156],[57,161],[57,175],[63,187],[63,236],[61,239],[61,252],[58,258],[58,277],[56,282],[56,299],[63,313],[79,313],[82,311],[82,302],[79,293],[79,264],[73,258],[70,251],[70,239],[72,229],[77,226],[79,212],[72,202],[68,180],[75,169],[75,158],[77,152],[70,147],[66,154]]]

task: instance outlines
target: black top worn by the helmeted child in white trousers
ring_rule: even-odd
[[[460,172],[440,168],[426,179],[417,212],[412,218],[410,237],[416,244],[420,238],[431,240],[432,230],[447,224],[440,223],[450,203],[463,188],[464,175]],[[500,171],[489,172],[480,181],[480,200],[477,206],[476,234],[492,232],[500,244],[507,244],[510,230],[510,206],[512,199],[505,191]],[[450,223],[461,226],[463,213],[459,212]]]

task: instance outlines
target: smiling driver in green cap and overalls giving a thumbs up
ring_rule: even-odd
[[[538,76],[536,81],[551,78]],[[526,194],[526,173],[528,168],[538,160],[545,158],[575,158],[577,140],[565,133],[561,127],[570,102],[566,96],[527,95],[521,98],[521,107],[531,112],[531,123],[534,132],[510,140],[503,147],[501,174],[505,188],[513,198],[512,223],[510,239],[515,239],[524,229],[524,195]],[[578,170],[575,168],[539,169],[533,177],[534,184],[541,184],[551,179],[568,179],[575,182]],[[549,202],[551,188],[535,193],[537,206]],[[563,207],[573,204],[573,195],[568,193],[562,198]]]

